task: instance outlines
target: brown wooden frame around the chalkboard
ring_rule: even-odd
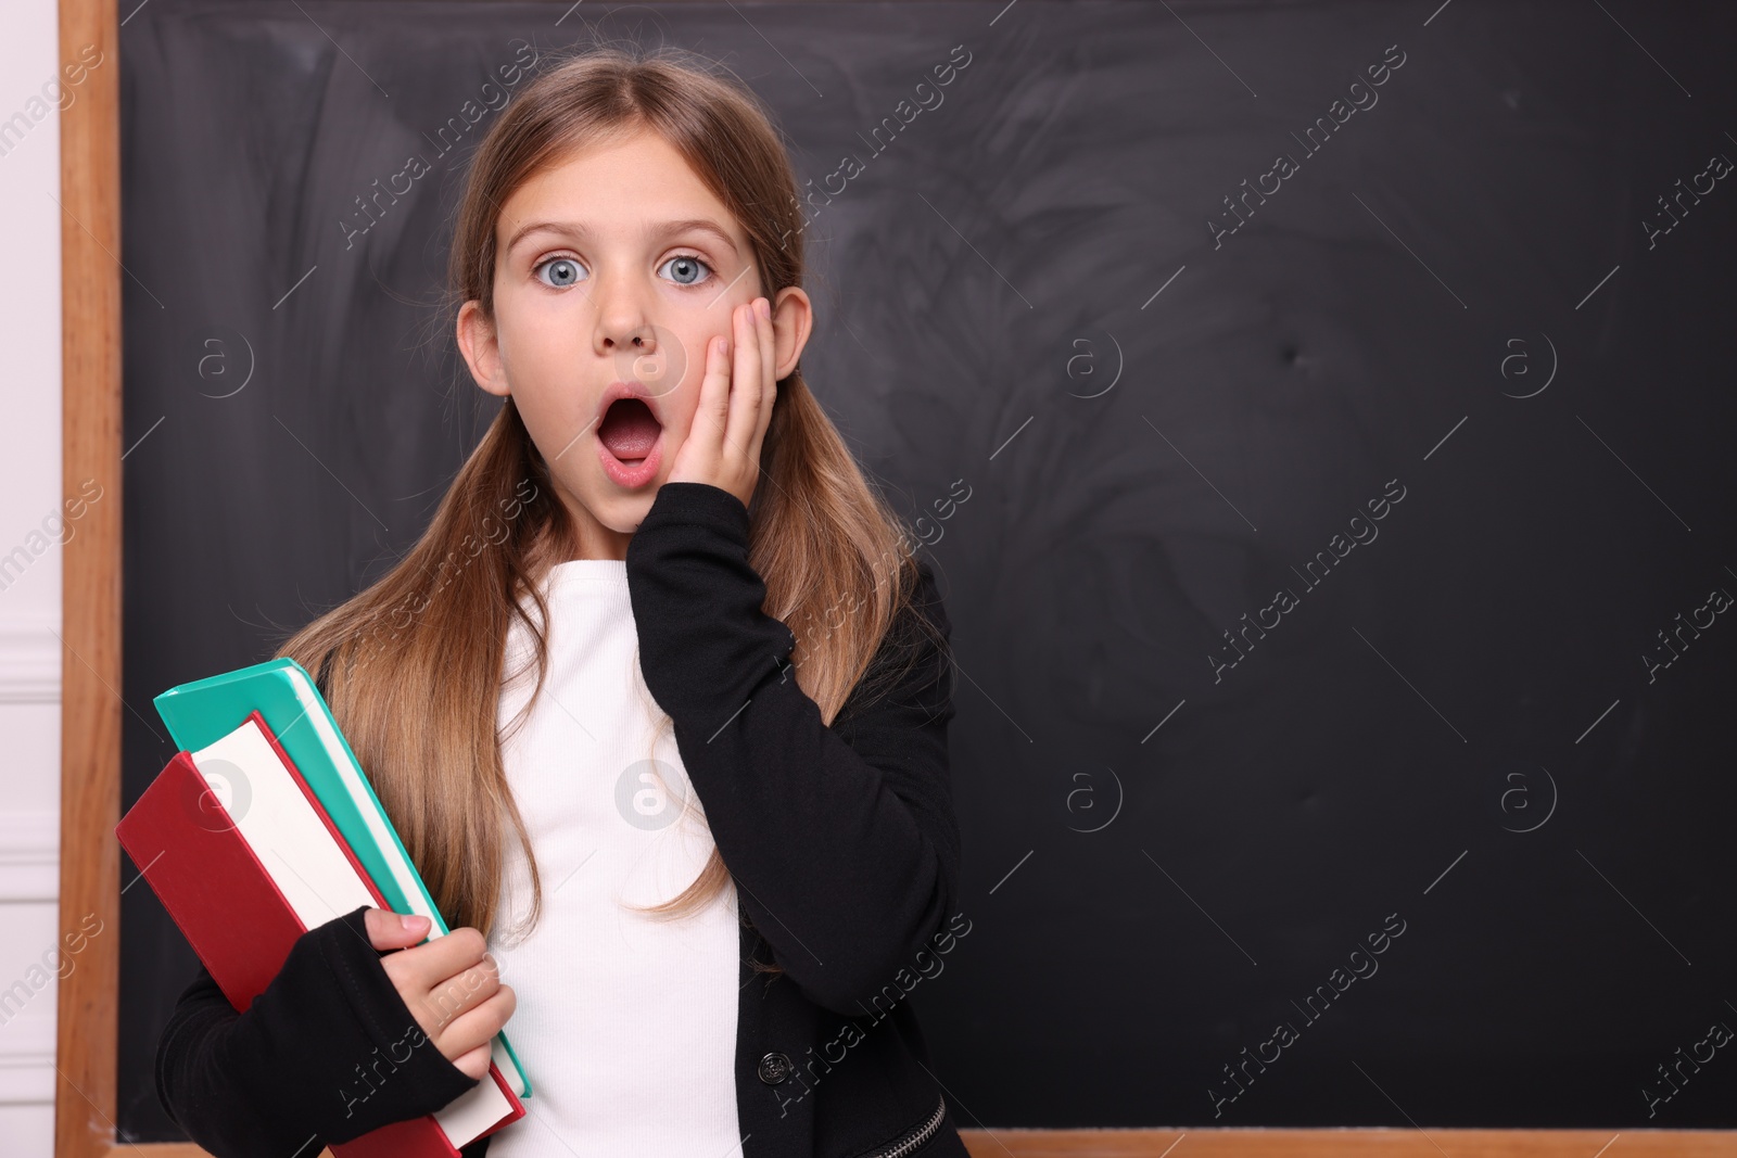
[[[127,0],[122,0],[127,2]],[[563,3],[565,0],[551,0]],[[717,0],[695,0],[716,3]],[[61,0],[59,54],[97,45],[83,99],[61,115],[61,486],[71,498],[102,484],[63,556],[61,637],[61,898],[71,936],[89,913],[120,927],[122,858],[122,278],[120,264],[120,14],[113,0]],[[149,705],[146,705],[146,710]],[[191,1142],[135,1144],[115,1137],[120,1040],[118,938],[90,938],[78,969],[59,983],[56,1028],[56,1158],[198,1158]],[[962,1130],[978,1158],[1157,1158],[1188,1137],[1190,1158],[1588,1158],[1614,1141],[1605,1130],[1398,1128],[1152,1128]],[[1737,1156],[1737,1132],[1622,1132],[1614,1158]]]

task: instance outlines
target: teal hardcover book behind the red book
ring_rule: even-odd
[[[301,663],[267,660],[179,684],[156,696],[155,703],[182,752],[198,752],[222,740],[257,710],[393,911],[427,917],[431,938],[452,932],[332,719],[325,696]],[[530,1078],[504,1030],[495,1035],[490,1056],[512,1092],[530,1097]]]

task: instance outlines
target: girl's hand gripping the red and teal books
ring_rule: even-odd
[[[429,932],[427,917],[370,908],[365,920],[373,948],[400,950],[380,964],[422,1033],[467,1076],[485,1076],[490,1042],[507,1024],[518,997],[500,983],[483,934],[466,925],[417,944]]]

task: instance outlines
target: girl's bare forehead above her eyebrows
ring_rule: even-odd
[[[532,174],[500,207],[495,240],[505,248],[528,222],[558,220],[606,238],[643,236],[648,224],[709,217],[747,245],[742,227],[688,160],[655,132],[604,141]]]

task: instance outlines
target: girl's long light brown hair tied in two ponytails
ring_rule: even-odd
[[[703,57],[608,47],[538,75],[479,142],[457,210],[448,306],[478,300],[493,319],[500,205],[573,149],[636,128],[662,134],[730,208],[768,297],[802,285],[797,182],[759,101]],[[778,382],[761,469],[749,561],[766,582],[763,609],[796,635],[797,686],[830,724],[910,602],[919,582],[912,540],[801,370]],[[497,712],[514,616],[535,637],[532,700],[547,668],[547,637],[519,606],[521,592],[545,623],[538,582],[577,554],[549,467],[507,398],[415,547],[278,651],[316,675],[325,670],[339,727],[452,927],[493,929],[505,823],[530,863],[528,924],[540,911],[542,882],[507,785]],[[915,620],[945,648],[933,625]],[[691,913],[728,880],[714,845],[693,884],[643,911]]]

